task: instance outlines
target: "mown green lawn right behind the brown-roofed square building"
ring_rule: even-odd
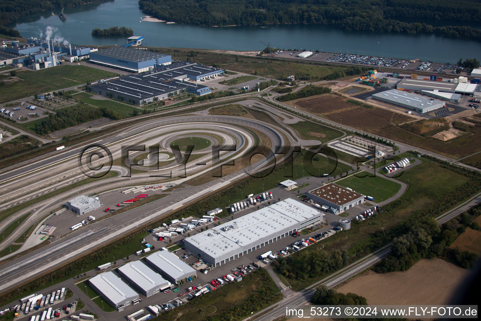
[[[366,174],[364,171],[358,173],[359,176],[364,174]],[[376,203],[387,200],[401,189],[399,183],[387,180],[380,175],[365,178],[358,178],[353,175],[336,181],[336,183],[343,187],[352,188],[355,192],[365,196],[372,196]]]

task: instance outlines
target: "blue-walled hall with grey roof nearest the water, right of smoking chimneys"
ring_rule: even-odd
[[[172,56],[129,47],[112,47],[90,53],[90,62],[141,73],[172,62]]]

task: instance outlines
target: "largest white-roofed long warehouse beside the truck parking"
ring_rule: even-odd
[[[288,198],[191,236],[184,247],[218,267],[322,219],[316,208]]]

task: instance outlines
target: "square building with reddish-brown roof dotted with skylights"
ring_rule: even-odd
[[[306,196],[320,205],[329,206],[326,210],[334,214],[342,213],[364,201],[364,195],[334,183],[311,190]]]

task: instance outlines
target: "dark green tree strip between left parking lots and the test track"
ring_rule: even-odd
[[[46,135],[55,130],[72,127],[101,117],[120,119],[120,115],[109,108],[75,105],[58,109],[56,114],[49,113],[49,116],[38,124],[36,132]]]

